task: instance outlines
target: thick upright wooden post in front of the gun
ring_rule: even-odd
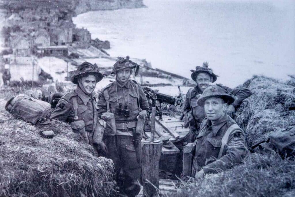
[[[159,188],[159,162],[162,145],[162,141],[142,142],[143,193],[148,197],[158,195],[156,188]]]

